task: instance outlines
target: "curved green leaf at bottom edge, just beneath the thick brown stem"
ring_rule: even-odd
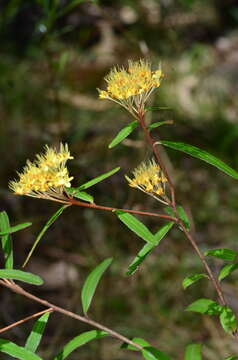
[[[87,344],[89,341],[100,339],[104,336],[108,336],[108,333],[101,330],[91,330],[84,332],[72,340],[70,340],[63,349],[59,352],[54,360],[64,360],[66,359],[74,350],[78,349],[80,346]]]

